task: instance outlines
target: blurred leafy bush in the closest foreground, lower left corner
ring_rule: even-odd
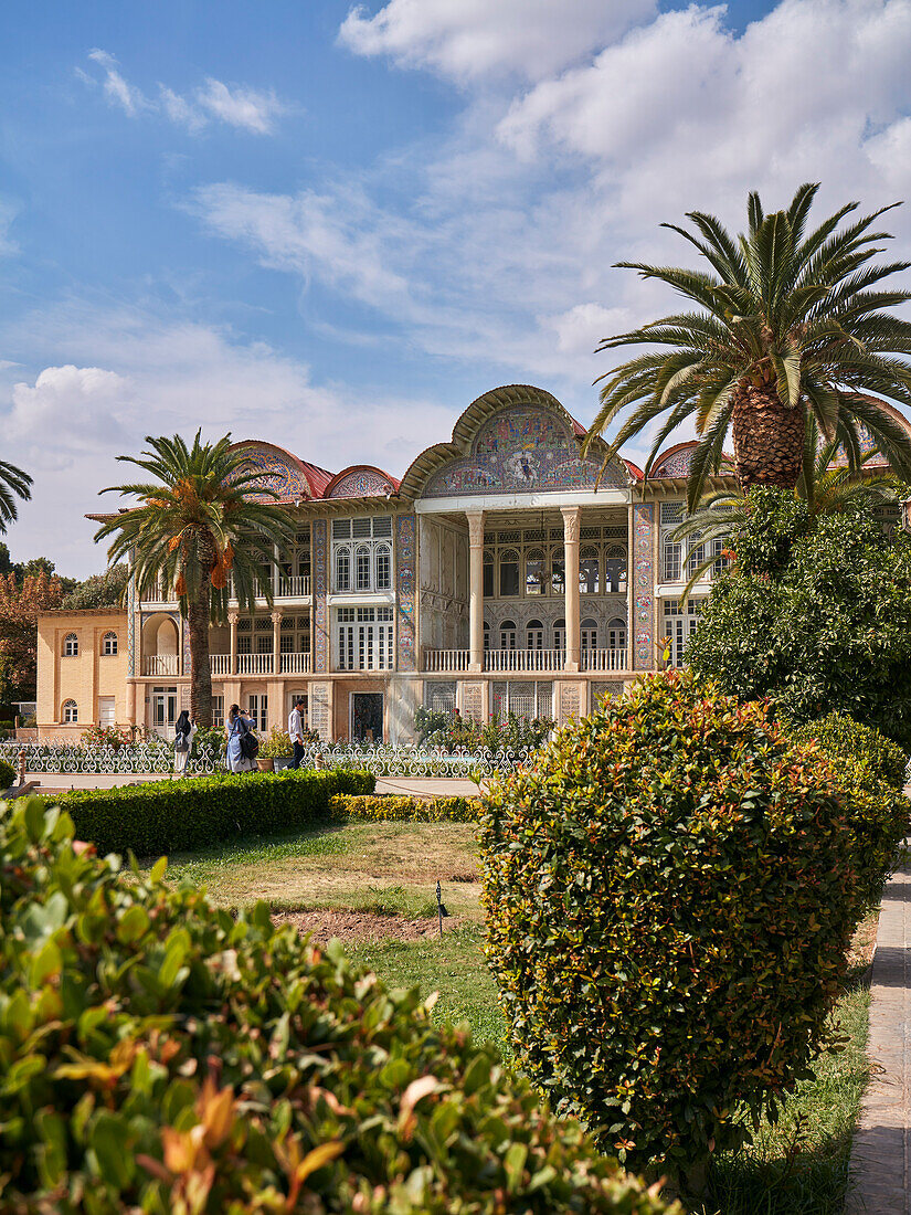
[[[4,1210],[669,1211],[417,989],[4,809]]]

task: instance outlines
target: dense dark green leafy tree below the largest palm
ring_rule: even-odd
[[[774,532],[765,520],[779,508],[792,518],[791,495],[756,497],[762,505],[734,537],[739,554]],[[911,539],[899,531],[887,542],[864,515],[819,516],[776,576],[739,561],[715,581],[686,661],[798,724],[847,713],[911,751]]]

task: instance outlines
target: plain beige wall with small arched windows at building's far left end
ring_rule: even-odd
[[[106,633],[117,633],[117,654],[101,652]],[[63,638],[75,633],[79,654],[64,657]],[[126,612],[45,612],[38,620],[38,728],[43,738],[78,739],[86,727],[98,722],[98,697],[114,697],[114,722],[129,725],[126,693]],[[79,720],[62,722],[63,701],[74,700]]]

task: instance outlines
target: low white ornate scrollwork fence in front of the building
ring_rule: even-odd
[[[32,773],[165,773],[174,768],[174,748],[166,742],[126,744],[121,747],[83,746],[66,742],[0,742],[0,758],[16,768],[24,752],[26,770]],[[372,746],[350,742],[312,744],[304,753],[302,768],[361,768],[374,776],[492,776],[525,763],[534,751],[480,747],[453,751],[424,747]],[[279,761],[281,763],[281,761]],[[221,748],[196,747],[191,773],[225,770]]]

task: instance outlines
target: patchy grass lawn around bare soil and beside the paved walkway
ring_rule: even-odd
[[[479,1041],[511,1057],[493,981],[483,961],[476,849],[469,824],[347,823],[292,838],[175,855],[171,881],[209,888],[215,903],[265,899],[275,910],[319,908],[434,915],[443,902],[462,922],[442,940],[383,939],[349,944],[351,957],[389,987],[438,991],[436,1021],[466,1021]],[[859,936],[875,938],[875,922]],[[858,966],[834,1019],[844,1050],[817,1061],[775,1126],[764,1125],[747,1151],[719,1160],[701,1215],[841,1215],[848,1157],[868,1075],[865,1058],[868,994]]]

